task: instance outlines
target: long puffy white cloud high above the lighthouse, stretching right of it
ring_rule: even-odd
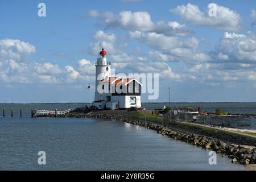
[[[122,28],[123,30],[156,32],[167,36],[185,36],[193,31],[184,24],[178,22],[152,22],[150,14],[146,11],[121,11],[114,15],[111,12],[99,13],[97,10],[90,10],[87,15],[91,18],[101,19],[106,28]]]

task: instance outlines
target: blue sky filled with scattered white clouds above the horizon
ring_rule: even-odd
[[[39,3],[46,16],[39,16]],[[0,102],[89,102],[98,47],[142,102],[256,102],[255,1],[0,1]],[[99,46],[98,46],[99,45]]]

